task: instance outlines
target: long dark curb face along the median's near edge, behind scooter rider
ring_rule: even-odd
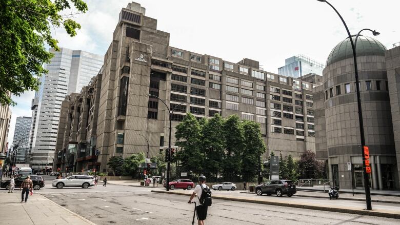
[[[155,191],[155,190],[151,190],[151,192],[174,194],[174,195],[186,195],[186,196],[190,195],[190,194],[186,194],[186,193]],[[222,200],[230,200],[230,201],[248,202],[248,203],[270,204],[273,206],[283,206],[283,207],[292,207],[292,208],[300,208],[300,209],[310,209],[310,210],[320,210],[320,211],[328,211],[328,212],[350,213],[350,214],[358,214],[358,215],[366,215],[366,216],[378,216],[378,217],[385,217],[385,218],[400,219],[400,214],[396,214],[396,213],[384,213],[384,212],[366,211],[366,210],[357,210],[357,209],[329,208],[329,207],[323,207],[323,206],[311,206],[311,205],[307,205],[307,204],[283,203],[283,202],[262,201],[262,200],[254,200],[254,199],[240,199],[240,198],[221,197],[221,196],[214,196],[212,198],[222,199]]]

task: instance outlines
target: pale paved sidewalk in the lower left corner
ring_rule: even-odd
[[[94,225],[93,222],[59,206],[48,198],[33,193],[27,202],[21,201],[21,191],[0,192],[0,218],[2,224],[47,225],[74,224]]]

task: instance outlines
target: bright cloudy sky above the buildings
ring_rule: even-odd
[[[130,1],[86,0],[88,11],[74,19],[82,29],[69,37],[62,29],[53,30],[60,47],[104,55],[118,22],[119,12]],[[229,62],[243,58],[259,61],[261,67],[277,73],[285,59],[297,54],[326,62],[330,51],[347,37],[332,8],[316,0],[286,1],[187,1],[136,0],[146,8],[146,16],[157,19],[157,29],[170,33],[170,46],[199,54],[221,57]],[[343,16],[351,34],[369,28],[388,49],[400,42],[396,15],[400,1],[330,0]],[[74,12],[69,10],[67,12]],[[365,31],[366,36],[372,36]],[[95,75],[95,74],[93,74]],[[17,116],[31,116],[34,92],[13,96],[8,136],[14,135]]]

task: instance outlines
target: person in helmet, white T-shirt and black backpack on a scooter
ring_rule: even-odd
[[[194,188],[194,191],[188,201],[188,203],[192,203],[192,200],[194,198],[194,202],[195,202],[195,206],[196,206],[195,212],[197,213],[198,225],[204,225],[204,220],[207,218],[208,206],[204,204],[205,202],[201,202],[203,191],[205,191],[205,189],[207,189],[209,192],[209,187],[205,184],[205,182],[206,182],[205,176],[198,177],[199,184],[196,185],[196,187]]]

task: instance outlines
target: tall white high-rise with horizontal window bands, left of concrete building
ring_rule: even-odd
[[[48,73],[41,78],[41,86],[33,99],[33,139],[30,165],[37,171],[51,168],[57,138],[61,102],[67,94],[81,91],[103,66],[103,56],[81,50],[50,49],[54,54],[44,67]],[[37,99],[36,99],[37,98]],[[37,105],[36,101],[37,100]]]

